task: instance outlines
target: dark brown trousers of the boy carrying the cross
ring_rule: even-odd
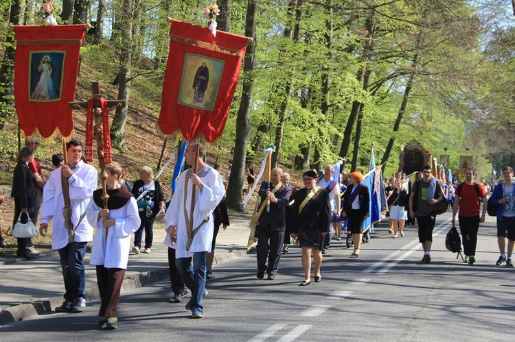
[[[124,276],[125,269],[106,269],[104,265],[97,265],[100,317],[118,317],[119,293],[122,290]]]

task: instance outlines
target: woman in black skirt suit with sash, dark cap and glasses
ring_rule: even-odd
[[[291,225],[291,237],[299,237],[302,247],[302,268],[304,281],[300,286],[311,284],[311,253],[314,260],[314,282],[320,282],[322,277],[323,236],[329,232],[332,217],[329,192],[317,186],[317,173],[310,170],[302,177],[304,188],[295,193]]]

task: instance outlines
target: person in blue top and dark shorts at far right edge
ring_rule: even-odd
[[[515,244],[515,186],[513,184],[513,169],[511,167],[503,167],[504,182],[497,184],[494,193],[489,201],[497,206],[497,244],[501,256],[496,262],[497,266],[501,266],[506,262],[507,267],[513,267],[512,254]],[[508,238],[507,256],[505,251],[505,238]]]

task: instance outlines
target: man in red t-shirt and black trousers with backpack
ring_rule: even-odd
[[[473,180],[474,170],[465,170],[465,182],[458,185],[455,193],[453,206],[453,219],[455,225],[456,212],[458,212],[459,230],[463,237],[463,249],[465,262],[473,265],[476,262],[477,231],[479,223],[485,221],[486,215],[486,192],[483,186]],[[479,217],[479,203],[483,203],[481,217]]]

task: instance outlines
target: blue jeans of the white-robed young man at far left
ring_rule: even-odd
[[[86,297],[86,273],[84,254],[87,242],[73,242],[58,249],[62,278],[65,279],[65,300],[74,302],[78,297]]]

